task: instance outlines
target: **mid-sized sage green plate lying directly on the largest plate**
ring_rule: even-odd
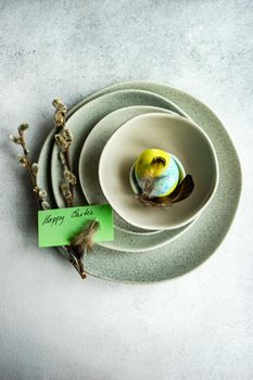
[[[74,135],[74,140],[71,145],[71,162],[74,163],[74,172],[77,174],[77,164],[80,155],[80,150],[84,141],[92,130],[98,118],[106,115],[112,110],[117,110],[126,104],[155,104],[161,106],[166,106],[169,110],[175,110],[177,114],[185,115],[177,106],[172,104],[168,100],[147,91],[136,91],[136,90],[125,90],[125,91],[114,91],[110,94],[104,94],[90,101],[87,104],[80,106],[67,121],[67,126]],[[130,117],[130,116],[129,116]],[[118,126],[121,121],[118,121]],[[98,144],[100,142],[98,141]],[[96,150],[96,147],[93,147]],[[96,154],[94,154],[96,159]],[[63,181],[62,178],[62,167],[59,161],[59,148],[55,144],[52,151],[52,162],[51,162],[51,180],[53,194],[55,198],[56,205],[59,207],[64,207],[65,204],[60,192],[60,183]],[[98,167],[96,168],[98,170]],[[96,190],[97,183],[90,183]],[[106,203],[106,202],[105,202]],[[85,205],[87,201],[84,193],[80,191],[79,186],[76,187],[75,191],[75,204]],[[102,242],[100,245],[110,248],[116,251],[128,251],[128,252],[143,252],[152,250],[153,248],[161,246],[165,244],[170,239],[175,239],[177,236],[182,233],[182,231],[189,226],[184,228],[175,229],[170,233],[162,233],[154,237],[149,237],[147,233],[142,235],[143,230],[130,226],[123,219],[117,219],[119,226],[115,228],[114,241]],[[119,228],[118,228],[119,227]],[[146,231],[144,231],[146,232]]]

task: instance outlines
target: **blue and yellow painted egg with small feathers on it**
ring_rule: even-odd
[[[144,150],[130,173],[132,190],[138,193],[144,189],[147,181],[152,180],[149,198],[170,194],[185,177],[185,170],[179,160],[161,149]]]

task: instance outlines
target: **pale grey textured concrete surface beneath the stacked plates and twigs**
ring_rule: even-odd
[[[0,0],[0,379],[253,377],[253,2]],[[36,248],[35,204],[15,147],[34,154],[51,100],[152,79],[187,90],[227,126],[244,185],[229,235],[189,275],[161,284],[81,282]]]

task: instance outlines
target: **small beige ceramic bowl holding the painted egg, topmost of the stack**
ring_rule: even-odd
[[[146,149],[157,148],[179,159],[194,181],[193,192],[172,206],[146,206],[129,183],[132,164]],[[211,202],[218,185],[218,162],[208,136],[180,116],[152,113],[130,118],[107,140],[99,162],[102,191],[115,212],[129,224],[153,229],[179,228]]]

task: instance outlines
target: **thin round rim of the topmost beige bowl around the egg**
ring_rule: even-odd
[[[112,204],[109,200],[109,197],[107,197],[107,193],[106,193],[106,187],[104,187],[104,183],[103,183],[103,180],[102,180],[102,164],[103,164],[103,159],[104,159],[104,155],[106,153],[106,149],[107,149],[107,145],[111,143],[111,140],[113,140],[117,135],[119,135],[122,132],[122,130],[124,128],[127,128],[128,124],[137,121],[137,119],[141,119],[141,118],[153,118],[153,117],[157,117],[157,118],[166,118],[166,119],[180,119],[181,122],[190,125],[191,127],[195,128],[203,137],[204,139],[207,141],[210,148],[211,148],[211,152],[212,152],[212,155],[213,155],[213,159],[214,159],[214,186],[213,186],[213,189],[208,195],[208,198],[206,199],[206,201],[204,202],[204,204],[201,206],[201,208],[195,212],[191,217],[189,218],[186,218],[184,219],[184,221],[181,223],[177,223],[177,224],[173,224],[170,226],[143,226],[142,224],[138,224],[136,223],[135,220],[131,220],[127,217],[125,217],[125,215],[122,214],[121,211],[117,210],[117,207],[114,206],[114,204]],[[216,154],[216,151],[215,151],[215,148],[214,148],[214,144],[211,140],[211,138],[208,137],[208,135],[195,123],[193,122],[192,119],[187,119],[180,115],[169,115],[169,114],[163,114],[163,113],[156,113],[156,112],[152,112],[152,113],[149,113],[149,114],[141,114],[141,115],[137,115],[137,116],[134,116],[134,117],[130,117],[129,119],[127,119],[126,122],[124,122],[123,124],[121,124],[118,126],[118,128],[113,132],[113,135],[109,138],[109,140],[106,141],[106,143],[104,144],[103,147],[103,150],[101,152],[101,155],[100,155],[100,159],[99,159],[99,167],[98,167],[98,172],[99,172],[99,182],[100,182],[100,186],[101,186],[101,189],[103,191],[103,194],[105,197],[105,199],[107,200],[109,204],[112,206],[112,208],[123,218],[125,219],[127,223],[131,224],[132,226],[136,226],[136,227],[139,227],[139,228],[143,228],[143,229],[147,229],[147,230],[153,230],[153,229],[156,229],[156,230],[173,230],[173,229],[176,229],[176,228],[180,228],[180,227],[184,227],[186,226],[187,224],[189,224],[190,221],[194,220],[197,217],[200,216],[200,214],[210,205],[210,203],[212,202],[216,191],[217,191],[217,188],[218,188],[218,182],[219,182],[219,165],[218,165],[218,159],[217,159],[217,154]]]

